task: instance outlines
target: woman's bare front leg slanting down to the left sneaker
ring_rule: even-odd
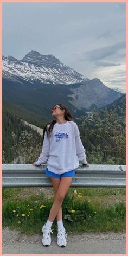
[[[48,217],[48,220],[53,222],[57,213],[59,213],[59,210],[61,208],[63,199],[65,198],[65,195],[72,183],[72,177],[62,177],[60,180],[59,188],[57,190],[55,201],[52,205],[52,208],[50,209],[50,214]]]

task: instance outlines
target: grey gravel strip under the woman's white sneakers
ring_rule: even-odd
[[[67,246],[61,248],[52,235],[52,244],[42,245],[42,235],[23,235],[3,229],[3,254],[125,254],[125,232],[67,234]]]

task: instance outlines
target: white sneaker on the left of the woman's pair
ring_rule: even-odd
[[[52,230],[53,229],[51,229],[50,227],[46,227],[46,223],[43,225],[43,227],[42,227],[42,232],[43,232],[42,244],[44,246],[49,246],[51,244],[50,233],[53,234]]]

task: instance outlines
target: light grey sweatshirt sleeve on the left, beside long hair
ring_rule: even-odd
[[[42,152],[41,152],[41,155],[39,156],[38,160],[36,161],[37,165],[47,162],[47,160],[49,158],[49,150],[50,150],[50,140],[47,136],[47,132],[45,132],[44,139],[43,139]]]

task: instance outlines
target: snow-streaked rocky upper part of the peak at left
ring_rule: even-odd
[[[23,80],[44,84],[76,84],[87,81],[83,75],[64,65],[53,55],[43,55],[31,50],[22,60],[12,56],[2,57],[3,78],[22,82]],[[22,80],[23,79],[23,80]]]

